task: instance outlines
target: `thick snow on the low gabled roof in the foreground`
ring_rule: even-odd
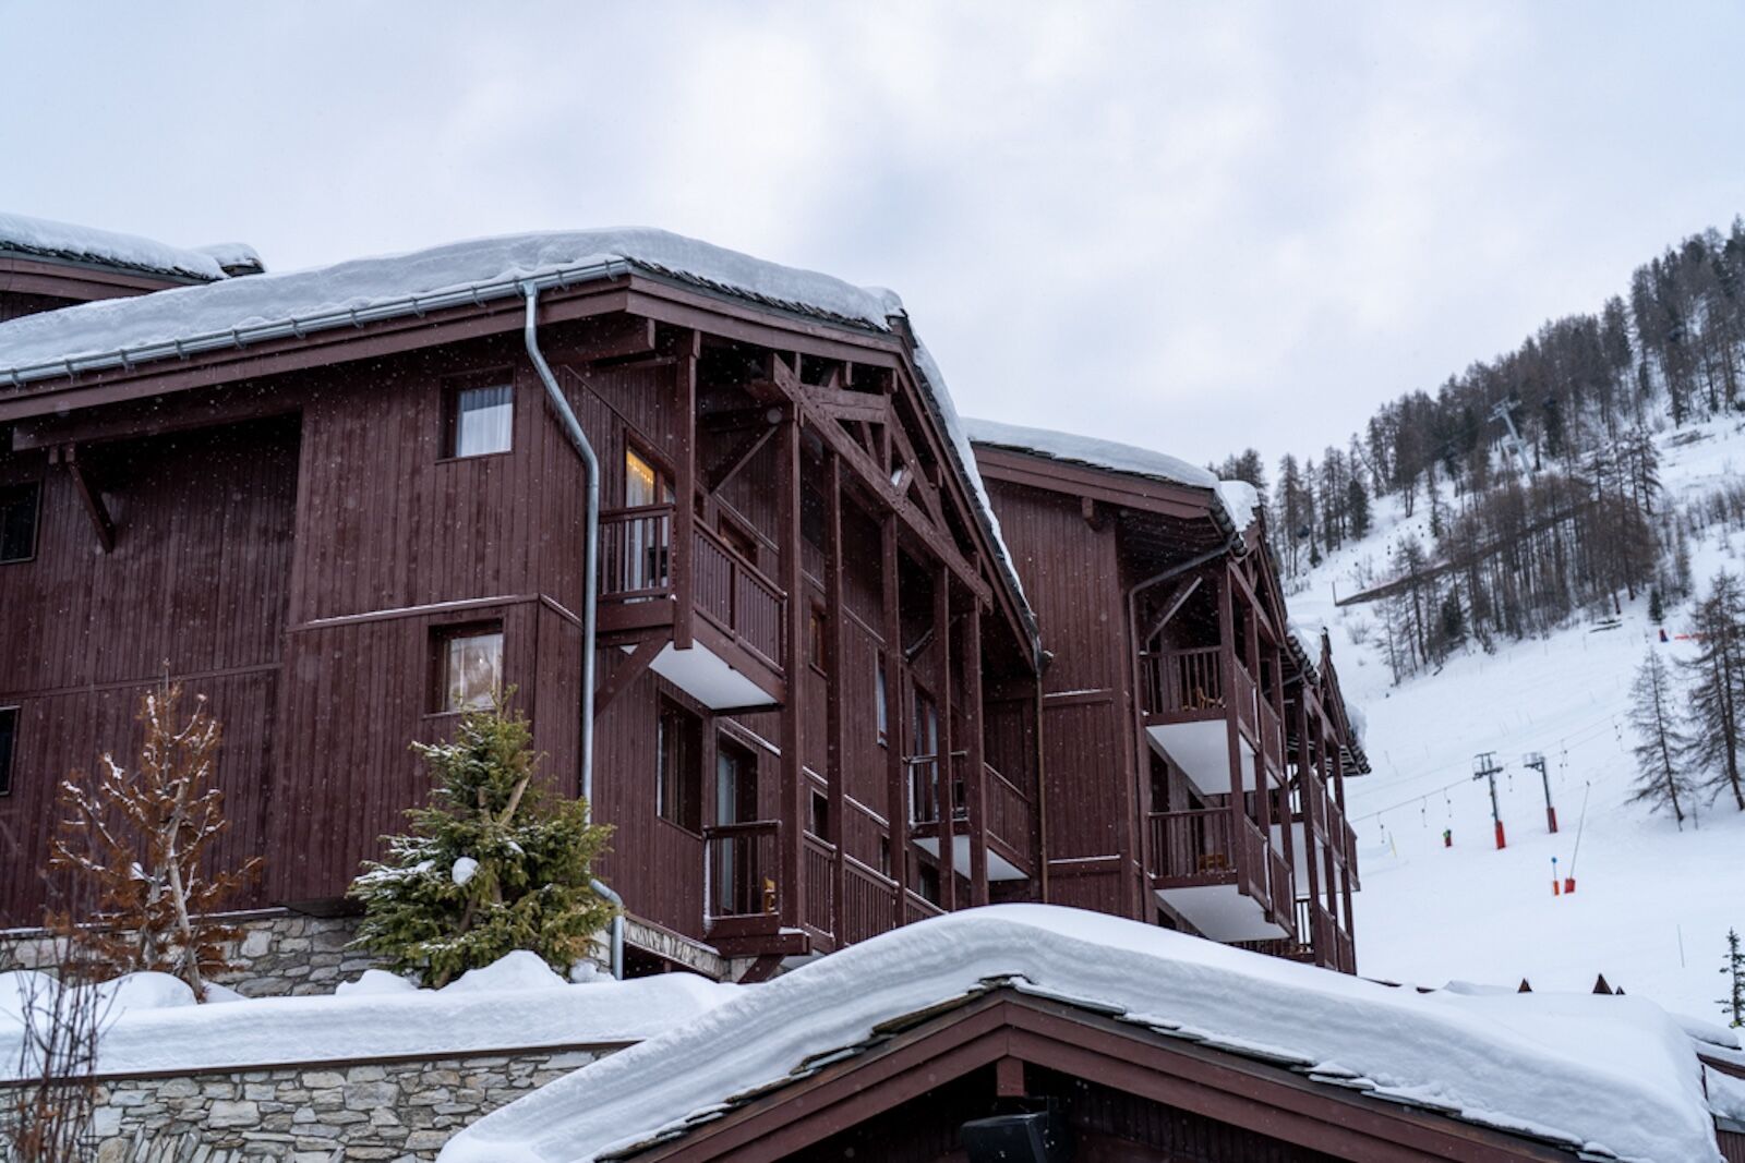
[[[989,982],[1316,1081],[1619,1160],[1715,1160],[1698,1058],[1649,1001],[1419,994],[1052,905],[911,924],[487,1114],[441,1163],[581,1163],[724,1114]]]

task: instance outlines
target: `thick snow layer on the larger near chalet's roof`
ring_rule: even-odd
[[[197,258],[211,267],[213,277],[222,277],[216,260],[209,255]],[[784,267],[667,230],[626,227],[518,234],[82,303],[0,323],[0,380],[23,382],[59,377],[73,366],[84,370],[174,357],[201,343],[241,345],[251,331],[262,330],[272,330],[272,338],[281,338],[321,326],[352,326],[352,312],[377,312],[375,317],[414,314],[440,296],[518,295],[520,281],[565,272],[574,272],[576,281],[604,277],[614,262],[764,307],[879,333],[892,330],[893,316],[906,314],[893,291]],[[949,438],[958,471],[970,485],[982,527],[1035,645],[1035,616],[1000,537],[1000,521],[988,502],[951,392],[923,345],[916,343],[914,356],[925,380],[923,396]]]

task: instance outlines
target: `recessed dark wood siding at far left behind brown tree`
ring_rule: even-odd
[[[28,924],[54,788],[103,752],[129,762],[140,692],[166,668],[223,722],[216,858],[265,844],[291,560],[295,417],[80,452],[115,521],[101,553],[66,466],[0,457],[0,481],[42,481],[37,556],[0,565],[0,706],[19,708],[12,795],[0,799],[0,922]],[[10,837],[12,844],[7,844]]]

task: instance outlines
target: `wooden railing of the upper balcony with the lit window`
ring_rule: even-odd
[[[670,598],[674,506],[600,514],[600,605]],[[703,525],[691,537],[691,602],[705,621],[773,670],[782,664],[782,589]]]

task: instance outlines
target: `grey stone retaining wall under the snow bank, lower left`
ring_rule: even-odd
[[[110,1078],[96,1163],[435,1160],[480,1116],[621,1048]]]

